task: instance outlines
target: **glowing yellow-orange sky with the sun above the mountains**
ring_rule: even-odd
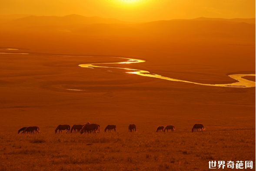
[[[0,15],[80,14],[128,21],[255,17],[255,0],[0,0]]]

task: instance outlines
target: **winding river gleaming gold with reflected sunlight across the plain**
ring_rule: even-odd
[[[18,50],[18,49],[13,49],[13,48],[0,48],[0,50]],[[29,53],[7,53],[3,52],[0,54],[22,54],[22,55],[29,55]],[[69,55],[58,55],[58,56],[69,56]],[[71,57],[77,57],[77,56],[71,56]],[[80,56],[80,57],[93,57],[93,56]],[[110,56],[106,56],[110,57]],[[146,70],[140,70],[140,69],[130,69],[130,68],[123,68],[123,67],[113,67],[113,66],[99,66],[99,65],[106,65],[106,64],[130,64],[130,63],[140,63],[140,62],[146,62],[141,59],[132,59],[132,58],[125,58],[125,57],[115,57],[112,56],[111,58],[119,58],[119,59],[125,59],[124,62],[104,62],[104,63],[88,63],[88,64],[80,64],[80,67],[83,68],[110,68],[110,69],[125,69],[129,74],[136,74],[139,76],[147,76],[147,77],[152,77],[156,79],[165,79],[168,81],[175,81],[175,82],[186,82],[186,83],[191,83],[191,84],[196,84],[196,85],[207,85],[207,86],[217,86],[217,87],[234,87],[234,88],[249,88],[249,87],[255,87],[255,82],[250,81],[248,79],[244,79],[244,76],[255,76],[255,74],[231,74],[229,75],[230,78],[235,79],[236,82],[233,83],[227,83],[227,84],[205,84],[205,83],[199,83],[199,82],[191,82],[191,81],[186,81],[186,80],[181,80],[181,79],[172,79],[170,77],[166,76],[161,76],[158,74],[150,73],[149,71]],[[83,91],[79,89],[68,89],[68,90],[76,90],[76,91]]]

